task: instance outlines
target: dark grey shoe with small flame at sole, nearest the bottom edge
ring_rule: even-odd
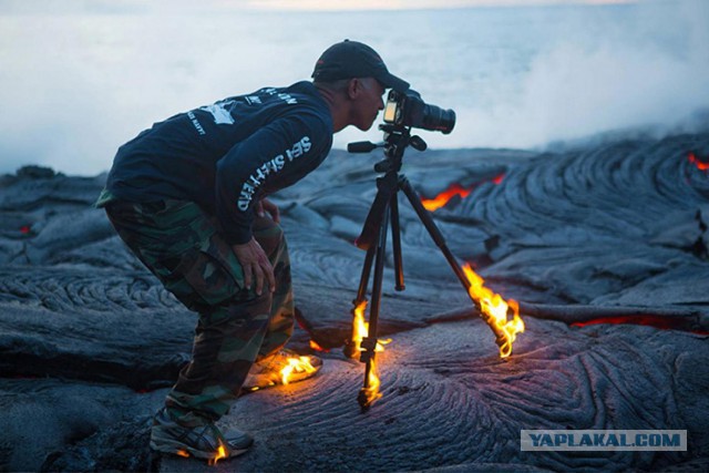
[[[151,449],[162,453],[216,461],[246,453],[253,443],[248,433],[238,429],[222,432],[212,422],[196,428],[179,425],[164,408],[153,419]]]

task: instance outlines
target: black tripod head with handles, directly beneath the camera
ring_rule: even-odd
[[[401,171],[403,153],[411,146],[417,151],[425,151],[428,144],[421,136],[411,135],[411,126],[392,125],[384,123],[379,125],[379,130],[384,132],[382,143],[356,142],[347,145],[349,153],[369,153],[378,147],[384,148],[384,160],[374,165],[378,173],[398,173]]]

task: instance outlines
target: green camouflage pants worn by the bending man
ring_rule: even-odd
[[[187,426],[215,421],[237,399],[248,370],[288,341],[294,329],[290,263],[280,227],[257,217],[254,236],[274,267],[276,291],[244,288],[236,255],[214,217],[182,200],[113,202],[114,228],[188,309],[199,313],[191,362],[167,394],[173,419]]]

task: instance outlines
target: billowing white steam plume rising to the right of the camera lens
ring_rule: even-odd
[[[709,105],[709,2],[649,7],[637,23],[616,25],[623,31],[573,30],[583,19],[571,21],[566,40],[531,61],[513,100],[497,96],[461,119],[487,136],[479,144],[512,147],[644,126],[709,130],[690,122]]]

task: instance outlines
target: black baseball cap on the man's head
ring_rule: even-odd
[[[377,51],[364,43],[345,40],[325,50],[312,71],[319,82],[351,78],[374,78],[384,88],[405,92],[409,83],[391,74]]]

